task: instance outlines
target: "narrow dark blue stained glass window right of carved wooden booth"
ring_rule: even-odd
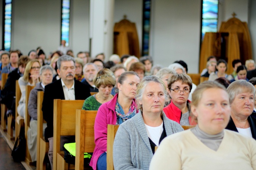
[[[142,56],[149,55],[150,6],[151,0],[143,0]]]

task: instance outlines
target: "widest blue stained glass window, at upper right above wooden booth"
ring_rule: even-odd
[[[219,0],[203,0],[202,41],[206,32],[217,32]]]

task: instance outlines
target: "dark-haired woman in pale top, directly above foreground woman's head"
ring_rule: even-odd
[[[216,69],[218,71],[212,72],[209,75],[209,80],[215,80],[215,79],[218,79],[219,77],[225,77],[225,78],[228,77],[228,75],[226,74],[227,62],[224,59],[219,59],[219,61],[217,62]]]

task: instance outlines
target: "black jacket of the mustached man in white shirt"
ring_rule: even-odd
[[[91,96],[89,87],[75,80],[75,99],[85,100]],[[61,79],[45,86],[42,111],[44,120],[47,122],[45,129],[45,140],[53,136],[53,100],[65,99]]]

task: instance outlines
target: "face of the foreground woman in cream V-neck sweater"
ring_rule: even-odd
[[[191,111],[201,130],[216,135],[227,126],[230,118],[228,93],[221,88],[208,88],[203,91],[198,106],[191,106]]]

